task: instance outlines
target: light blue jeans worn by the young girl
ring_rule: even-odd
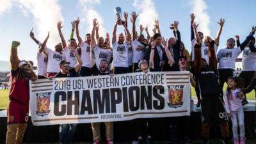
[[[244,111],[243,108],[240,111],[230,111],[232,117],[232,130],[233,130],[233,138],[234,140],[239,140],[238,130],[240,132],[240,138],[245,137],[245,130],[244,130]]]

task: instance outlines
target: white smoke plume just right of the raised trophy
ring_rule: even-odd
[[[133,6],[138,10],[138,23],[144,27],[148,25],[148,31],[150,34],[155,24],[155,20],[158,17],[155,4],[152,0],[134,0]]]

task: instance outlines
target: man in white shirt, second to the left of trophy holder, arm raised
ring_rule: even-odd
[[[95,67],[95,60],[93,60],[92,51],[90,47],[91,35],[90,33],[86,35],[86,40],[83,41],[79,35],[79,18],[75,20],[76,22],[76,36],[81,47],[81,59],[83,61],[83,66],[80,70],[80,76],[92,76],[93,67]]]

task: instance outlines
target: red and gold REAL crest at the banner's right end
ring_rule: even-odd
[[[183,88],[182,86],[168,86],[168,94],[169,94],[169,102],[168,106],[170,108],[178,108],[181,107],[183,102]]]

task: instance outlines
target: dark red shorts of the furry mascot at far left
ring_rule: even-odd
[[[7,124],[28,123],[29,103],[10,100],[7,108]]]

